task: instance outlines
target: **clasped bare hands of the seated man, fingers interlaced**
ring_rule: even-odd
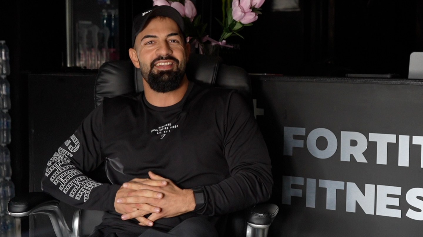
[[[173,217],[195,209],[191,189],[180,189],[171,180],[153,172],[150,178],[135,178],[116,193],[115,210],[122,220],[136,218],[141,226],[153,226],[160,218]],[[152,213],[148,218],[144,215]]]

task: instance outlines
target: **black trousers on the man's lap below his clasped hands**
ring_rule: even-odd
[[[93,232],[90,237],[118,237],[118,235],[98,230]],[[214,226],[206,219],[192,217],[182,221],[168,233],[148,229],[139,237],[218,237],[218,234]]]

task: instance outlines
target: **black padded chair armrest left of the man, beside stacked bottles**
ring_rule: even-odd
[[[58,199],[46,194],[44,192],[33,192],[22,196],[16,196],[10,199],[8,203],[8,212],[15,217],[27,216],[35,207],[46,203],[59,202]]]

